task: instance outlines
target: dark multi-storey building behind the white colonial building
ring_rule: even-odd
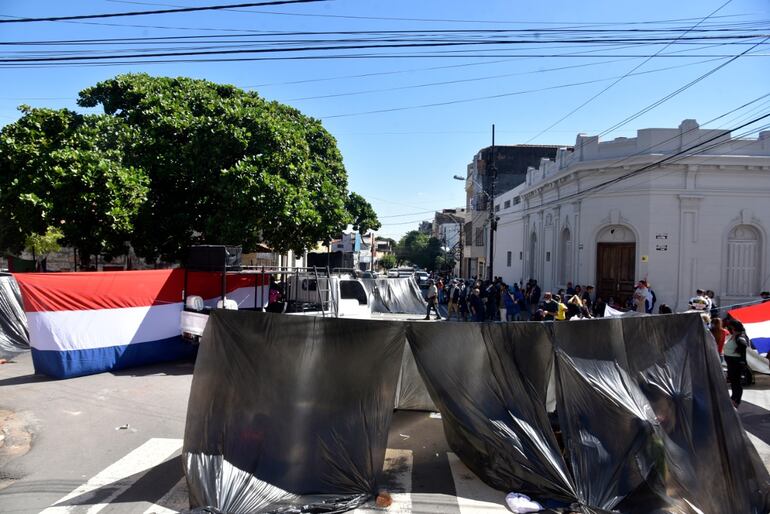
[[[530,166],[537,166],[543,158],[553,158],[559,148],[546,145],[489,146],[473,157],[465,176],[466,223],[461,274],[466,277],[486,277],[488,274],[487,238],[492,191],[498,195],[521,184],[526,180]]]

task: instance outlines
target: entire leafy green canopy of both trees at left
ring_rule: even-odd
[[[320,121],[257,93],[189,78],[119,75],[80,92],[102,115],[24,109],[0,132],[0,246],[49,226],[63,244],[175,260],[191,244],[301,252],[352,223],[377,229],[347,190]]]

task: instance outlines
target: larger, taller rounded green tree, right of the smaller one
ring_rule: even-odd
[[[101,105],[131,129],[126,160],[151,181],[132,239],[140,255],[179,258],[195,243],[300,252],[355,221],[336,141],[296,109],[233,86],[145,74],[101,82],[79,104]]]

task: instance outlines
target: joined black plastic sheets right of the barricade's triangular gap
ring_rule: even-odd
[[[447,440],[489,485],[586,512],[766,513],[770,477],[699,315],[409,327]],[[555,370],[564,452],[548,421]]]

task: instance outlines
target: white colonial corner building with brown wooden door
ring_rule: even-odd
[[[607,142],[578,135],[495,211],[494,274],[509,283],[592,284],[623,301],[646,278],[675,310],[697,288],[723,306],[753,300],[770,289],[770,131],[732,139],[685,120]]]

